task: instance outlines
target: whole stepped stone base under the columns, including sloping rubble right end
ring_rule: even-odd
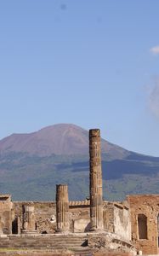
[[[52,234],[52,235],[8,235],[0,237],[0,251],[14,252],[14,255],[30,253],[31,249],[39,252],[71,252],[71,255],[92,255],[92,252],[135,252],[132,244],[121,240],[120,236],[111,233],[89,234]],[[18,252],[16,252],[18,249]],[[22,252],[20,252],[20,250]],[[78,254],[79,253],[79,254]],[[61,255],[61,254],[60,254]]]

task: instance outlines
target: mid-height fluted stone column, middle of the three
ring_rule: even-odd
[[[57,232],[62,233],[69,231],[68,187],[65,184],[56,185],[56,223]]]

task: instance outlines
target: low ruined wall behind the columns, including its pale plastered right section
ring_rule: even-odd
[[[14,202],[12,210],[13,233],[20,234],[22,228],[22,205],[35,207],[36,230],[41,234],[53,234],[56,230],[56,211],[54,202]],[[88,232],[90,229],[89,201],[70,201],[71,232]],[[128,208],[122,204],[104,202],[104,230],[116,233],[122,239],[129,241]]]

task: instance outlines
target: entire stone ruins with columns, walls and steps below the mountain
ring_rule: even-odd
[[[89,199],[69,201],[66,184],[56,185],[56,202],[11,201],[11,195],[0,195],[1,249],[159,252],[159,195],[103,201],[99,129],[89,131],[89,156]]]

